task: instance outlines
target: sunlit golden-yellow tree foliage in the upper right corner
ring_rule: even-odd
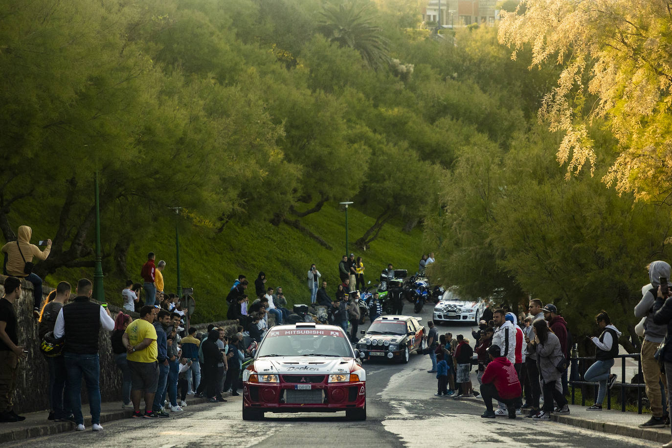
[[[563,132],[567,177],[597,158],[590,136],[605,120],[619,153],[603,181],[638,199],[667,193],[672,177],[672,0],[522,0],[501,12],[499,42],[532,49],[530,69],[554,59],[558,85],[538,112]]]

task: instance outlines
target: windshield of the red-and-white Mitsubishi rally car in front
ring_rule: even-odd
[[[343,333],[335,330],[271,330],[257,357],[333,356],[353,357]]]

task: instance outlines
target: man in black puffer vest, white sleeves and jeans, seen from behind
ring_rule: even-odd
[[[100,431],[100,361],[98,358],[98,333],[114,329],[114,320],[108,308],[91,302],[93,285],[89,279],[77,283],[77,297],[71,304],[61,308],[54,326],[54,337],[65,337],[63,347],[67,370],[66,393],[73,408],[77,431],[84,431],[84,416],[81,410],[82,377],[89,391],[91,425]]]

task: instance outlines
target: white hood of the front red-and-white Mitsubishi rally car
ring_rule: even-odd
[[[328,375],[350,373],[357,362],[353,358],[288,356],[274,359],[257,359],[254,369],[259,373],[279,373],[280,375],[312,374]]]

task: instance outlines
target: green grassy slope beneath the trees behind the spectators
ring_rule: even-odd
[[[106,217],[103,217],[103,219]],[[109,217],[107,217],[109,218]],[[350,208],[348,212],[350,251],[364,259],[364,279],[375,282],[383,267],[393,263],[395,267],[415,271],[421,255],[421,230],[402,232],[401,222],[390,222],[374,240],[366,252],[354,250],[354,241],[362,236],[375,219]],[[28,222],[28,221],[26,221]],[[315,263],[327,280],[330,295],[338,280],[338,262],[345,253],[345,216],[337,206],[325,205],[317,214],[306,216],[302,223],[319,234],[334,249],[329,251],[302,232],[282,224],[273,226],[267,222],[253,222],[241,226],[228,224],[224,232],[214,234],[211,229],[192,226],[181,230],[180,258],[181,283],[194,287],[196,320],[207,322],[226,316],[226,294],[239,273],[247,275],[251,285],[248,289],[254,296],[252,284],[259,271],[265,271],[267,285],[282,286],[288,302],[309,302],[306,273],[310,263]],[[48,234],[48,229],[36,226],[36,236]],[[103,245],[112,247],[102,236]],[[140,281],[139,273],[146,253],[153,251],[157,260],[167,263],[163,271],[166,290],[176,290],[175,233],[171,224],[159,224],[141,244],[130,247],[128,271]],[[82,275],[93,277],[93,270],[62,269],[47,277],[46,283],[56,285],[59,280],[77,281]],[[121,289],[124,279],[105,278],[106,296],[109,302],[121,304]]]

